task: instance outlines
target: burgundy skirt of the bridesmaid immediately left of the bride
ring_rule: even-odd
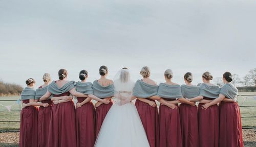
[[[96,137],[99,134],[101,125],[106,117],[106,113],[109,112],[112,105],[113,102],[111,100],[111,103],[109,104],[101,104],[99,107],[96,107]]]

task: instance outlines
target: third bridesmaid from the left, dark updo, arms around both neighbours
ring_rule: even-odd
[[[53,94],[55,97],[51,100],[58,103],[52,106],[47,144],[48,146],[76,146],[75,107],[73,97],[69,95],[81,97],[87,97],[87,95],[75,90],[74,81],[67,81],[66,69],[60,69],[58,76],[59,80],[53,81],[48,86],[46,94],[40,98],[40,100],[45,100]]]

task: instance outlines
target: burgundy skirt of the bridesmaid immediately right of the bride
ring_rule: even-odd
[[[147,100],[154,101],[151,99],[147,99]],[[159,146],[159,122],[158,122],[157,107],[154,108],[140,100],[136,100],[135,106],[140,115],[142,125],[146,131],[147,140],[150,143],[150,146],[158,147]]]

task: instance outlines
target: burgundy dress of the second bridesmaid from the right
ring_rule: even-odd
[[[205,100],[214,100],[204,97]],[[199,146],[218,147],[219,146],[219,107],[212,105],[206,110],[202,109],[202,103],[198,105],[199,124]]]

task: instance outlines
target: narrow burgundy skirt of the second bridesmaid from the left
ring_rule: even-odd
[[[38,147],[47,146],[48,142],[48,134],[49,134],[49,125],[51,119],[51,111],[52,111],[52,101],[46,100],[41,103],[48,103],[48,107],[40,106],[38,112]]]

